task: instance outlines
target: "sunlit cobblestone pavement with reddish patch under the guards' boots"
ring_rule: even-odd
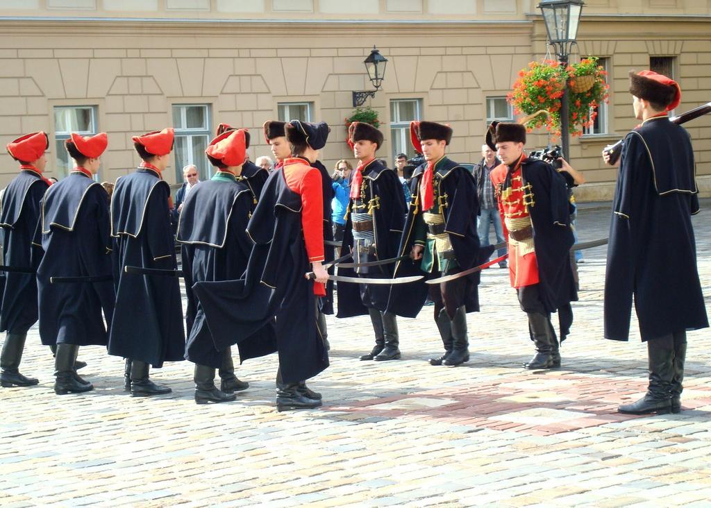
[[[694,224],[709,308],[703,204]],[[581,210],[581,241],[605,237],[608,222],[609,206]],[[95,391],[55,396],[33,329],[23,372],[39,386],[0,389],[0,505],[710,506],[711,333],[689,334],[681,414],[617,414],[646,387],[646,350],[638,336],[602,337],[605,253],[580,265],[562,369],[520,367],[533,350],[525,316],[506,271],[489,269],[461,367],[426,362],[442,348],[432,307],[400,320],[397,362],[359,362],[368,318],[329,317],[331,367],[310,382],[325,401],[314,411],[274,409],[274,357],[239,367],[251,387],[237,401],[197,406],[192,364],[154,370],[171,396],[132,399],[122,360],[85,347]]]

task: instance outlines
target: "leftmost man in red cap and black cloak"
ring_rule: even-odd
[[[4,232],[5,266],[26,270],[6,272],[0,308],[0,331],[7,332],[0,356],[0,384],[3,387],[29,387],[38,379],[24,377],[19,367],[27,330],[37,321],[38,256],[31,256],[32,240],[40,217],[40,202],[50,185],[43,177],[49,146],[43,131],[26,134],[7,145],[12,158],[20,163],[20,174],[5,190],[0,212]]]

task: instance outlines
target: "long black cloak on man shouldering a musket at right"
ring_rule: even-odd
[[[642,340],[708,326],[691,215],[699,211],[689,134],[668,117],[622,145],[605,274],[604,333],[628,340],[632,301]]]

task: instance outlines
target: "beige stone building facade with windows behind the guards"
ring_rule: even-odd
[[[378,112],[392,164],[412,153],[412,119],[448,122],[449,153],[481,158],[491,119],[513,117],[506,94],[518,70],[546,54],[537,1],[528,0],[1,0],[0,139],[50,135],[48,174],[68,169],[69,131],[107,131],[102,180],[139,162],[132,134],[176,128],[173,167],[210,173],[202,151],[220,122],[250,129],[250,158],[271,155],[268,119],[324,120],[322,153],[331,168],[352,158],[345,119],[352,92],[371,88],[363,60],[373,48],[388,59],[383,87],[366,106]],[[609,71],[610,103],[594,129],[572,139],[572,164],[588,183],[582,200],[611,199],[616,170],[602,148],[636,123],[629,70],[653,67],[680,82],[683,112],[711,100],[711,1],[587,0],[578,53]],[[711,115],[686,125],[703,192],[711,191]],[[547,144],[535,132],[530,148]],[[0,185],[17,165],[0,156]]]

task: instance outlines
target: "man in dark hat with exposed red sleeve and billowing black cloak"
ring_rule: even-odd
[[[324,195],[321,174],[311,166],[328,131],[324,122],[287,124],[294,156],[284,159],[262,189],[247,226],[255,247],[245,276],[193,286],[218,350],[235,337],[250,337],[276,317],[279,411],[320,406],[321,395],[306,387],[305,380],[328,367],[316,309],[316,296],[326,294],[328,281],[322,264]],[[315,282],[305,277],[309,269]],[[259,350],[249,357],[262,354]]]

